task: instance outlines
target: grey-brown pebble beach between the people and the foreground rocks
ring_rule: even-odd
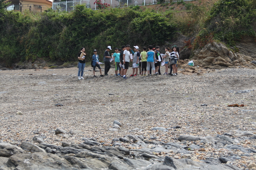
[[[181,70],[177,76],[123,79],[114,76],[113,68],[110,75],[96,72],[93,78],[86,67],[84,80],[78,80],[77,68],[2,70],[0,140],[20,146],[37,144],[33,138],[38,136],[61,146],[93,139],[102,147],[118,143],[134,153],[172,142],[189,153],[166,149],[151,154],[197,162],[225,157],[222,163],[256,169],[256,70],[228,68],[202,75]],[[66,133],[56,135],[57,128]],[[127,135],[130,141],[119,139]],[[138,140],[147,145],[135,145],[138,140],[129,135],[143,137]],[[228,143],[218,145],[216,137]],[[230,149],[230,144],[237,147]]]

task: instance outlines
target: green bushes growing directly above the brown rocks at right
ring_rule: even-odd
[[[256,40],[252,27],[256,17],[255,3],[255,0],[217,1],[207,14],[194,48],[212,41],[223,41],[229,46],[235,46],[236,41],[244,36],[252,36]]]

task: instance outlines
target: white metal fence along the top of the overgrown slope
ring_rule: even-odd
[[[98,0],[99,1],[99,0]],[[181,0],[164,0],[164,3],[177,2]],[[192,1],[192,0],[183,0]],[[154,5],[157,4],[157,0],[101,0],[101,3],[107,3],[111,8],[123,8],[128,6],[142,6],[142,5]],[[95,4],[95,0],[70,0],[70,1],[60,1],[53,2],[52,9],[59,11],[70,12],[74,10],[76,5],[84,4],[86,8],[91,8],[93,10],[98,9]]]

